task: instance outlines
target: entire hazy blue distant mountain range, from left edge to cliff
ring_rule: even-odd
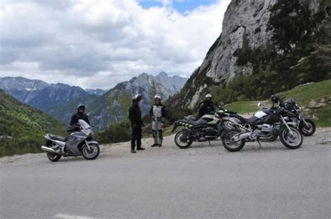
[[[142,112],[147,113],[154,95],[160,94],[163,100],[179,92],[187,78],[169,76],[165,72],[159,75],[142,73],[138,77],[117,84],[113,89],[82,89],[67,84],[47,84],[41,80],[29,80],[24,77],[0,77],[0,89],[33,107],[47,112],[64,123],[68,123],[79,103],[87,106],[91,123],[96,129],[106,128],[113,121],[122,121],[127,117],[131,98],[140,93],[145,100]]]

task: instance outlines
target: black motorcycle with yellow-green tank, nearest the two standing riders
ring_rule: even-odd
[[[175,121],[172,133],[178,127],[184,127],[175,135],[175,144],[180,149],[189,148],[193,142],[209,142],[220,137],[222,133],[220,116],[216,112],[206,114],[198,120],[186,117]]]

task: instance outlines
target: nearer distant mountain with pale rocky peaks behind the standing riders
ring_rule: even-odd
[[[68,123],[78,103],[84,103],[91,123],[96,129],[101,130],[107,128],[111,122],[123,121],[127,118],[128,107],[135,94],[142,95],[142,114],[147,114],[156,94],[166,100],[169,96],[178,93],[186,81],[185,77],[169,76],[165,72],[156,76],[142,73],[138,77],[117,84],[102,96],[83,96],[64,105],[49,107],[46,112]]]

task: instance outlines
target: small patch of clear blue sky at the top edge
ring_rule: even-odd
[[[161,1],[161,0],[139,0],[142,8],[162,7],[165,2],[168,2],[172,8],[177,10],[179,13],[186,13],[192,11],[199,6],[209,6],[216,3],[216,0],[174,0],[174,1]]]

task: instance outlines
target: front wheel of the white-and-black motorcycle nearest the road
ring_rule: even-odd
[[[292,134],[288,128],[284,128],[279,135],[281,143],[284,144],[288,149],[298,149],[302,145],[303,137],[297,128],[290,127]]]

